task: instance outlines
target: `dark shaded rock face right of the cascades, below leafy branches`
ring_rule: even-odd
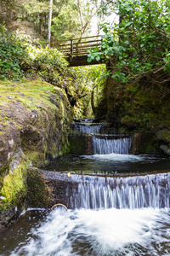
[[[166,154],[170,149],[170,103],[169,96],[149,81],[139,84],[118,84],[108,78],[105,84],[105,96],[100,102],[97,114],[102,114],[112,127],[125,132],[151,133],[154,139],[149,147],[140,144],[134,151],[138,154]],[[143,136],[141,143],[147,143],[148,136]],[[137,137],[135,138],[137,147]],[[145,140],[145,141],[144,141]],[[139,137],[138,137],[139,143]],[[166,147],[165,147],[166,146]],[[149,150],[150,148],[150,150]]]

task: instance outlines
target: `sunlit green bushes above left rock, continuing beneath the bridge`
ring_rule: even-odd
[[[105,74],[105,65],[68,69],[67,61],[57,49],[42,48],[38,40],[34,40],[32,44],[31,38],[25,32],[17,31],[14,34],[7,32],[4,27],[3,31],[4,48],[0,49],[3,51],[1,59],[4,60],[1,61],[2,79],[41,79],[65,88],[77,117],[92,114],[91,94],[94,90],[95,102],[100,101],[105,83],[105,77],[101,78],[101,75]],[[8,53],[8,41],[15,55],[12,51]],[[32,103],[25,100],[22,99],[22,102],[31,108]]]

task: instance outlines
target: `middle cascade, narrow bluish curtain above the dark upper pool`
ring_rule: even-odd
[[[94,154],[129,154],[132,138],[109,139],[109,137],[93,137]]]

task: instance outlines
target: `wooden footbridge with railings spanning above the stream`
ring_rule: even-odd
[[[63,52],[69,67],[95,65],[105,63],[104,60],[88,62],[88,51],[91,48],[99,47],[101,44],[100,36],[87,38],[75,38],[50,43],[50,47],[57,48]]]

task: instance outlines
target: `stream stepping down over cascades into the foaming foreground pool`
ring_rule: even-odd
[[[99,132],[84,123],[77,129]],[[78,182],[67,191],[69,209],[22,212],[0,231],[0,255],[169,255],[170,159],[130,154],[131,143],[94,137],[93,155],[51,162],[43,172],[70,172]]]

